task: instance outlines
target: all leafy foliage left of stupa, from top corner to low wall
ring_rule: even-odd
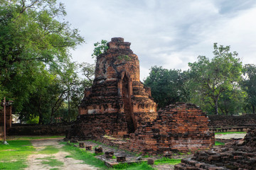
[[[55,0],[0,3],[0,97],[12,99],[23,120],[53,123],[80,86],[70,49],[84,40],[60,20],[65,8]]]

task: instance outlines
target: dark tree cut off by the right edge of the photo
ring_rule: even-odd
[[[256,106],[256,65],[245,64],[242,69],[243,80],[242,88],[247,92],[247,102],[252,108],[252,113],[255,113]]]

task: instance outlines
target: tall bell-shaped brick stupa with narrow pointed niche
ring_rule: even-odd
[[[150,89],[139,81],[139,60],[131,43],[112,38],[107,45],[107,52],[97,57],[93,86],[85,90],[80,118],[68,138],[122,136],[156,118],[156,103]]]

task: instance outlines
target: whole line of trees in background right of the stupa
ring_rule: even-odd
[[[255,113],[256,66],[242,66],[237,52],[217,43],[213,45],[213,58],[198,56],[188,63],[188,70],[151,67],[144,84],[164,108],[179,101],[195,103],[208,114],[234,115]]]

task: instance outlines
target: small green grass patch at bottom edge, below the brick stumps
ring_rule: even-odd
[[[126,170],[154,170],[154,168],[152,168],[152,166],[150,166],[149,164],[147,164],[146,162],[142,162],[142,163],[133,163],[133,164],[117,164],[114,165],[112,169],[126,169]]]

